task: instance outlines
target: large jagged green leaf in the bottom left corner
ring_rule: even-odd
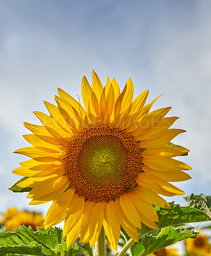
[[[33,232],[32,228],[19,226],[15,232],[0,233],[0,255],[16,253],[17,255],[60,255],[72,256],[81,252],[79,246],[67,248],[62,237],[61,228],[38,228]]]

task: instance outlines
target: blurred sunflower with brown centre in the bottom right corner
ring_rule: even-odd
[[[191,255],[211,256],[211,244],[205,234],[200,234],[196,238],[185,239],[186,252]]]

